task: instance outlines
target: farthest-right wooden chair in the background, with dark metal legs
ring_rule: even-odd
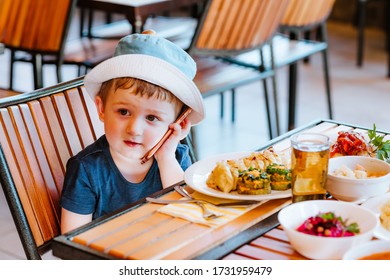
[[[281,32],[273,38],[275,67],[288,66],[288,121],[287,129],[295,127],[296,88],[298,82],[298,63],[310,56],[321,53],[323,60],[324,81],[329,118],[333,118],[331,104],[331,85],[328,66],[328,39],[326,22],[332,11],[335,0],[290,0],[289,6],[280,22]],[[308,40],[308,32],[316,31],[317,38]],[[286,35],[287,34],[287,35]],[[264,49],[264,56],[269,57],[270,51]],[[254,68],[261,64],[256,53],[241,55],[236,58],[241,63]],[[265,59],[265,67],[271,67]],[[278,104],[276,117],[279,119]]]

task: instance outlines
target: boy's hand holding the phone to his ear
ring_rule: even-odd
[[[191,122],[185,119],[181,124],[170,124],[169,128],[173,129],[172,134],[154,155],[158,162],[161,160],[175,159],[177,145],[190,132]]]

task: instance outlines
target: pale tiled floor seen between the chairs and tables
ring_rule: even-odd
[[[77,32],[77,31],[76,31]],[[379,30],[367,30],[366,56],[363,68],[357,68],[356,30],[347,24],[329,23],[330,69],[334,119],[372,127],[376,123],[381,130],[390,130],[390,79],[385,78],[386,53],[384,34]],[[8,56],[0,56],[0,87],[7,86]],[[16,67],[19,77],[17,89],[29,91],[32,87],[30,66]],[[76,77],[76,70],[66,66],[65,79]],[[56,83],[54,69],[47,67],[47,83]],[[278,71],[282,127],[286,127],[286,69]],[[301,65],[299,73],[297,125],[304,125],[317,118],[327,118],[321,57],[312,57],[310,64]],[[226,98],[226,115],[219,117],[219,98],[205,100],[206,120],[198,128],[199,157],[218,153],[254,149],[267,139],[263,96],[258,84],[245,86],[237,92],[236,122],[230,122],[229,98]],[[3,192],[0,191],[0,259],[25,259],[25,255],[8,210]],[[45,259],[53,259],[49,254]]]

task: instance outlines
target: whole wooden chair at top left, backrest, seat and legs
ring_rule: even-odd
[[[14,64],[33,65],[34,87],[42,88],[43,65],[55,64],[58,82],[61,66],[93,67],[113,55],[117,40],[67,40],[77,0],[2,0],[0,41],[10,50],[9,88],[13,89]],[[79,70],[80,71],[80,70]],[[80,74],[80,72],[79,72]]]

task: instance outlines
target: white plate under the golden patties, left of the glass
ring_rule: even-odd
[[[250,154],[251,152],[228,153],[228,154],[221,154],[215,157],[200,160],[194,163],[193,165],[191,165],[184,172],[184,181],[195,191],[198,191],[200,193],[209,196],[219,197],[219,198],[260,201],[260,200],[290,197],[291,189],[286,191],[272,191],[270,194],[249,195],[249,194],[238,194],[236,191],[232,191],[230,193],[224,193],[222,191],[209,188],[206,185],[206,180],[218,161],[243,158]]]

